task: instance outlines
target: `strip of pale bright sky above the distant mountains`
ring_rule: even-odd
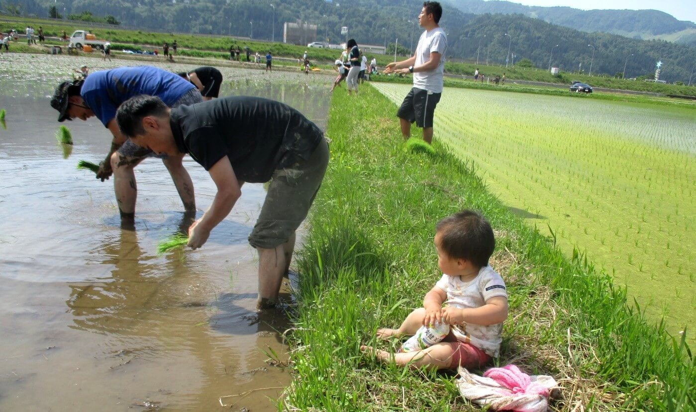
[[[568,6],[582,10],[598,8],[643,10],[653,9],[669,13],[679,20],[696,22],[696,1],[694,0],[509,0],[526,6]]]

